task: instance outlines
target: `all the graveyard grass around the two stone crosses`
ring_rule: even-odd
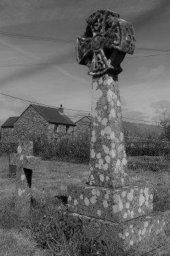
[[[146,159],[144,159],[146,158]],[[166,158],[131,157],[129,162],[137,162],[136,168],[129,166],[131,185],[146,184],[161,193],[155,194],[154,210],[169,208],[169,162]],[[159,168],[143,167],[143,162],[158,162]],[[165,165],[166,164],[166,165]],[[144,171],[144,175],[143,175]],[[15,180],[7,179],[7,157],[0,159],[0,229],[4,237],[2,256],[87,256],[112,255],[104,243],[92,240],[82,230],[82,223],[67,219],[67,185],[88,181],[88,165],[69,162],[41,161],[33,172],[32,190],[36,199],[27,223],[19,221],[14,214]],[[6,234],[6,236],[5,236]],[[9,239],[8,239],[9,238]],[[24,247],[27,244],[27,248]],[[10,243],[12,240],[14,243]],[[15,246],[15,248],[14,248]],[[16,250],[16,251],[15,251]],[[41,252],[39,254],[39,252]],[[5,254],[6,253],[6,254]],[[8,253],[8,254],[7,254]]]

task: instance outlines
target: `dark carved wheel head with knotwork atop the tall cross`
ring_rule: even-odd
[[[120,63],[126,53],[133,54],[135,50],[135,32],[131,23],[109,10],[94,12],[86,22],[86,31],[76,42],[78,63],[88,66],[88,74],[92,76],[122,72]]]

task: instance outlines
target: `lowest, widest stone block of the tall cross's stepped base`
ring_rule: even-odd
[[[89,237],[105,242],[113,255],[140,256],[167,242],[165,212],[141,216],[124,223],[103,221],[75,213],[67,213],[66,216],[73,218],[75,223],[82,223],[83,230]]]

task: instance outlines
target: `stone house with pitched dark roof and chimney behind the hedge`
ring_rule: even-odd
[[[63,107],[52,108],[31,104],[19,117],[9,117],[1,126],[1,142],[47,139],[71,134],[75,124],[63,113]]]

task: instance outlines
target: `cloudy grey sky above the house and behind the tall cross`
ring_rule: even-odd
[[[123,117],[155,124],[163,113],[169,115],[169,0],[0,0],[0,93],[50,106],[63,104],[73,122],[90,113],[92,76],[76,61],[74,42],[28,40],[1,33],[75,41],[86,29],[86,18],[100,9],[118,12],[135,29],[137,48],[133,55],[126,54],[118,75]],[[16,98],[0,95],[1,124],[31,104]]]

